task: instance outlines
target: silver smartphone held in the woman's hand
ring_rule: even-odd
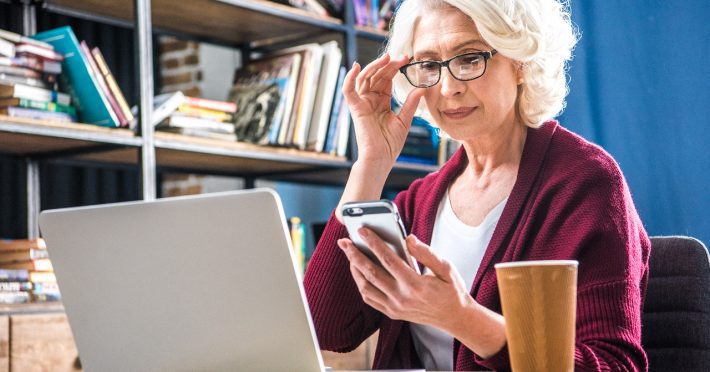
[[[389,200],[373,200],[345,203],[343,205],[343,223],[348,229],[350,240],[373,262],[382,266],[380,260],[370,251],[365,241],[360,237],[358,229],[368,227],[374,231],[387,246],[419,274],[419,265],[409,254],[402,220],[399,218],[397,206]]]

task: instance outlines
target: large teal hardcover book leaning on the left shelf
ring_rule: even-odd
[[[51,44],[54,50],[64,55],[62,77],[66,78],[67,91],[76,106],[79,120],[104,127],[118,127],[118,118],[99,88],[98,77],[94,75],[89,61],[81,52],[79,41],[71,27],[40,32],[33,38]]]

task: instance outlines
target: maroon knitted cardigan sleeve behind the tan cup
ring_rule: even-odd
[[[520,236],[526,259],[579,261],[575,370],[645,371],[641,310],[650,241],[621,171],[600,155],[570,174],[562,171],[539,193]],[[475,359],[510,369],[507,348]]]

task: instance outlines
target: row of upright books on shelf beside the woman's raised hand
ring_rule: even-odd
[[[228,98],[237,105],[237,140],[345,155],[342,57],[331,41],[279,50],[238,69]]]

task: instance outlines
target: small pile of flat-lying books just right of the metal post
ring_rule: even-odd
[[[153,125],[157,130],[188,136],[235,141],[232,102],[188,97],[182,92],[166,93],[153,100]]]

